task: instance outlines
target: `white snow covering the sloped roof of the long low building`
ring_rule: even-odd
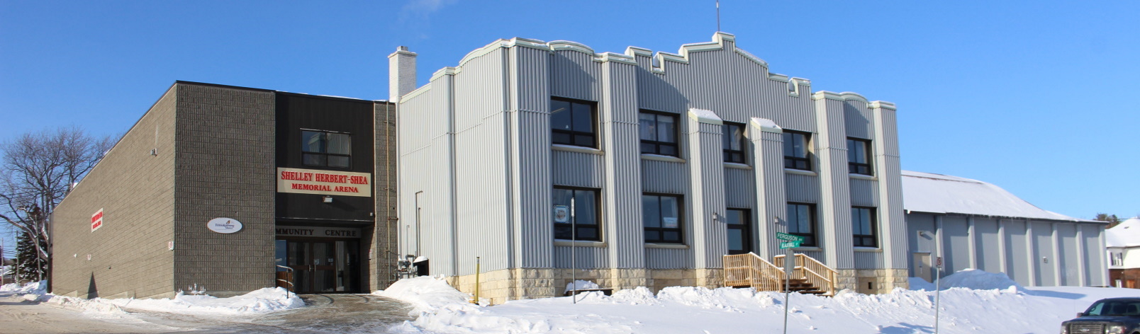
[[[933,214],[1091,222],[1043,210],[986,182],[911,170],[903,170],[903,208]]]

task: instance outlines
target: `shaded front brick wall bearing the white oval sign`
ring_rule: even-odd
[[[227,297],[276,286],[274,92],[177,86],[174,289]],[[243,229],[206,228],[217,217]]]

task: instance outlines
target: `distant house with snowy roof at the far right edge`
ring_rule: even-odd
[[[1140,218],[1129,218],[1105,229],[1108,279],[1113,286],[1140,287]]]

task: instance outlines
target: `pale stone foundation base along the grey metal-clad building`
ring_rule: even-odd
[[[906,269],[839,269],[836,291],[850,289],[860,293],[887,293],[895,287],[907,287]],[[491,304],[507,300],[561,297],[567,284],[576,279],[597,283],[614,292],[637,286],[649,287],[653,293],[668,286],[720,287],[724,270],[708,269],[555,269],[516,268],[500,269],[479,275],[479,298]],[[447,277],[455,289],[475,294],[475,275]],[[872,289],[868,289],[871,283]]]

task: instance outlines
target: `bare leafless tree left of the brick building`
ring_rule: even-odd
[[[51,258],[51,210],[113,144],[109,136],[62,127],[26,133],[0,145],[0,220],[40,241],[38,261]]]

